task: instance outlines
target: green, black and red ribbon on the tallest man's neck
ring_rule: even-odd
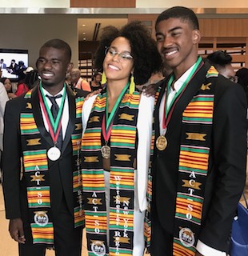
[[[171,86],[171,84],[174,80],[174,74],[171,75],[170,80],[167,84],[167,88],[166,88],[166,97],[165,97],[165,102],[164,102],[164,113],[162,115],[162,118],[163,118],[162,128],[163,128],[163,130],[166,130],[166,127],[168,126],[168,123],[170,122],[170,118],[171,118],[172,113],[174,111],[174,107],[176,106],[178,100],[181,98],[182,93],[186,90],[186,87],[189,84],[190,80],[192,78],[194,78],[194,74],[196,74],[196,71],[200,67],[202,67],[202,65],[203,65],[202,58],[198,57],[198,60],[195,63],[193,70],[191,70],[190,75],[188,76],[188,78],[186,78],[186,81],[183,82],[182,87],[175,94],[175,96],[172,99],[172,101],[170,102],[170,106],[169,106],[169,105],[167,105],[167,98],[168,98],[168,95],[169,95],[170,86]]]

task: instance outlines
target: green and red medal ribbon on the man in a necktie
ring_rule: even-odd
[[[41,102],[41,106],[42,106],[42,110],[44,112],[45,118],[46,118],[46,122],[48,124],[49,127],[49,131],[50,131],[50,136],[54,141],[54,144],[56,144],[57,140],[58,140],[58,134],[61,130],[62,127],[62,110],[64,108],[65,105],[65,99],[66,99],[66,85],[64,85],[64,93],[62,95],[62,103],[59,107],[58,110],[58,116],[54,122],[54,118],[53,115],[51,113],[51,110],[46,102],[46,97],[42,91],[42,82],[40,82],[40,87],[38,90],[38,98]]]

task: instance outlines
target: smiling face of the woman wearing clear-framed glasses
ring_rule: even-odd
[[[115,38],[110,45],[111,51],[106,54],[103,70],[108,82],[122,81],[127,83],[134,67],[132,58],[122,58],[131,55],[130,42],[123,37]],[[114,54],[113,54],[114,53]]]

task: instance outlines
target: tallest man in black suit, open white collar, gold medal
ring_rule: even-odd
[[[156,21],[173,73],[154,111],[151,255],[226,255],[246,180],[246,98],[198,56],[198,18],[177,6]]]

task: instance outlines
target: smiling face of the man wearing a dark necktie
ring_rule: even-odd
[[[66,51],[53,47],[42,47],[37,61],[38,74],[46,90],[64,85],[66,73],[70,71],[70,60]],[[58,90],[59,91],[59,90]]]

